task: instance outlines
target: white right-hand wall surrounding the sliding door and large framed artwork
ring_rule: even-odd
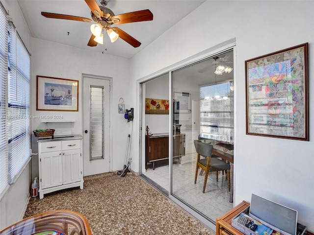
[[[244,61],[288,47],[309,43],[309,72],[314,65],[314,1],[208,0],[131,59],[131,106],[139,106],[137,80],[143,80],[205,50],[235,38],[235,204],[251,193],[299,212],[298,220],[314,231],[314,144],[245,134]],[[192,25],[192,26],[191,26]],[[199,35],[195,37],[195,35]],[[150,60],[147,60],[150,58]],[[166,69],[165,69],[166,68]],[[309,103],[314,83],[309,73]],[[313,117],[313,106],[309,106]],[[137,130],[139,122],[134,123]],[[138,132],[133,132],[133,138]],[[134,144],[135,145],[135,144]],[[136,162],[139,151],[132,147]]]

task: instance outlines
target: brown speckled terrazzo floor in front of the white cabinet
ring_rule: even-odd
[[[24,217],[53,210],[78,211],[93,235],[214,235],[139,176],[84,177],[84,189],[30,198]]]

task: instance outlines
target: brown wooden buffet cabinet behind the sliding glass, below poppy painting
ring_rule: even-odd
[[[173,158],[180,159],[185,155],[185,134],[173,135]],[[153,170],[155,169],[155,162],[166,160],[169,158],[169,135],[160,133],[153,135],[146,135],[146,165],[153,163]]]

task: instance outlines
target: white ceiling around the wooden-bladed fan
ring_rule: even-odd
[[[100,0],[96,1],[101,5]],[[142,43],[140,47],[134,48],[120,38],[111,43],[107,35],[104,35],[104,45],[88,47],[87,43],[91,37],[90,25],[93,23],[51,19],[41,15],[44,11],[91,19],[90,8],[84,0],[18,0],[32,37],[100,53],[104,51],[106,54],[124,58],[133,57],[204,1],[110,0],[106,7],[115,15],[145,9],[153,13],[153,21],[115,25]]]

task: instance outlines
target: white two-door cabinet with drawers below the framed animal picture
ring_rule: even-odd
[[[83,189],[81,139],[38,140],[39,198],[64,188]]]

